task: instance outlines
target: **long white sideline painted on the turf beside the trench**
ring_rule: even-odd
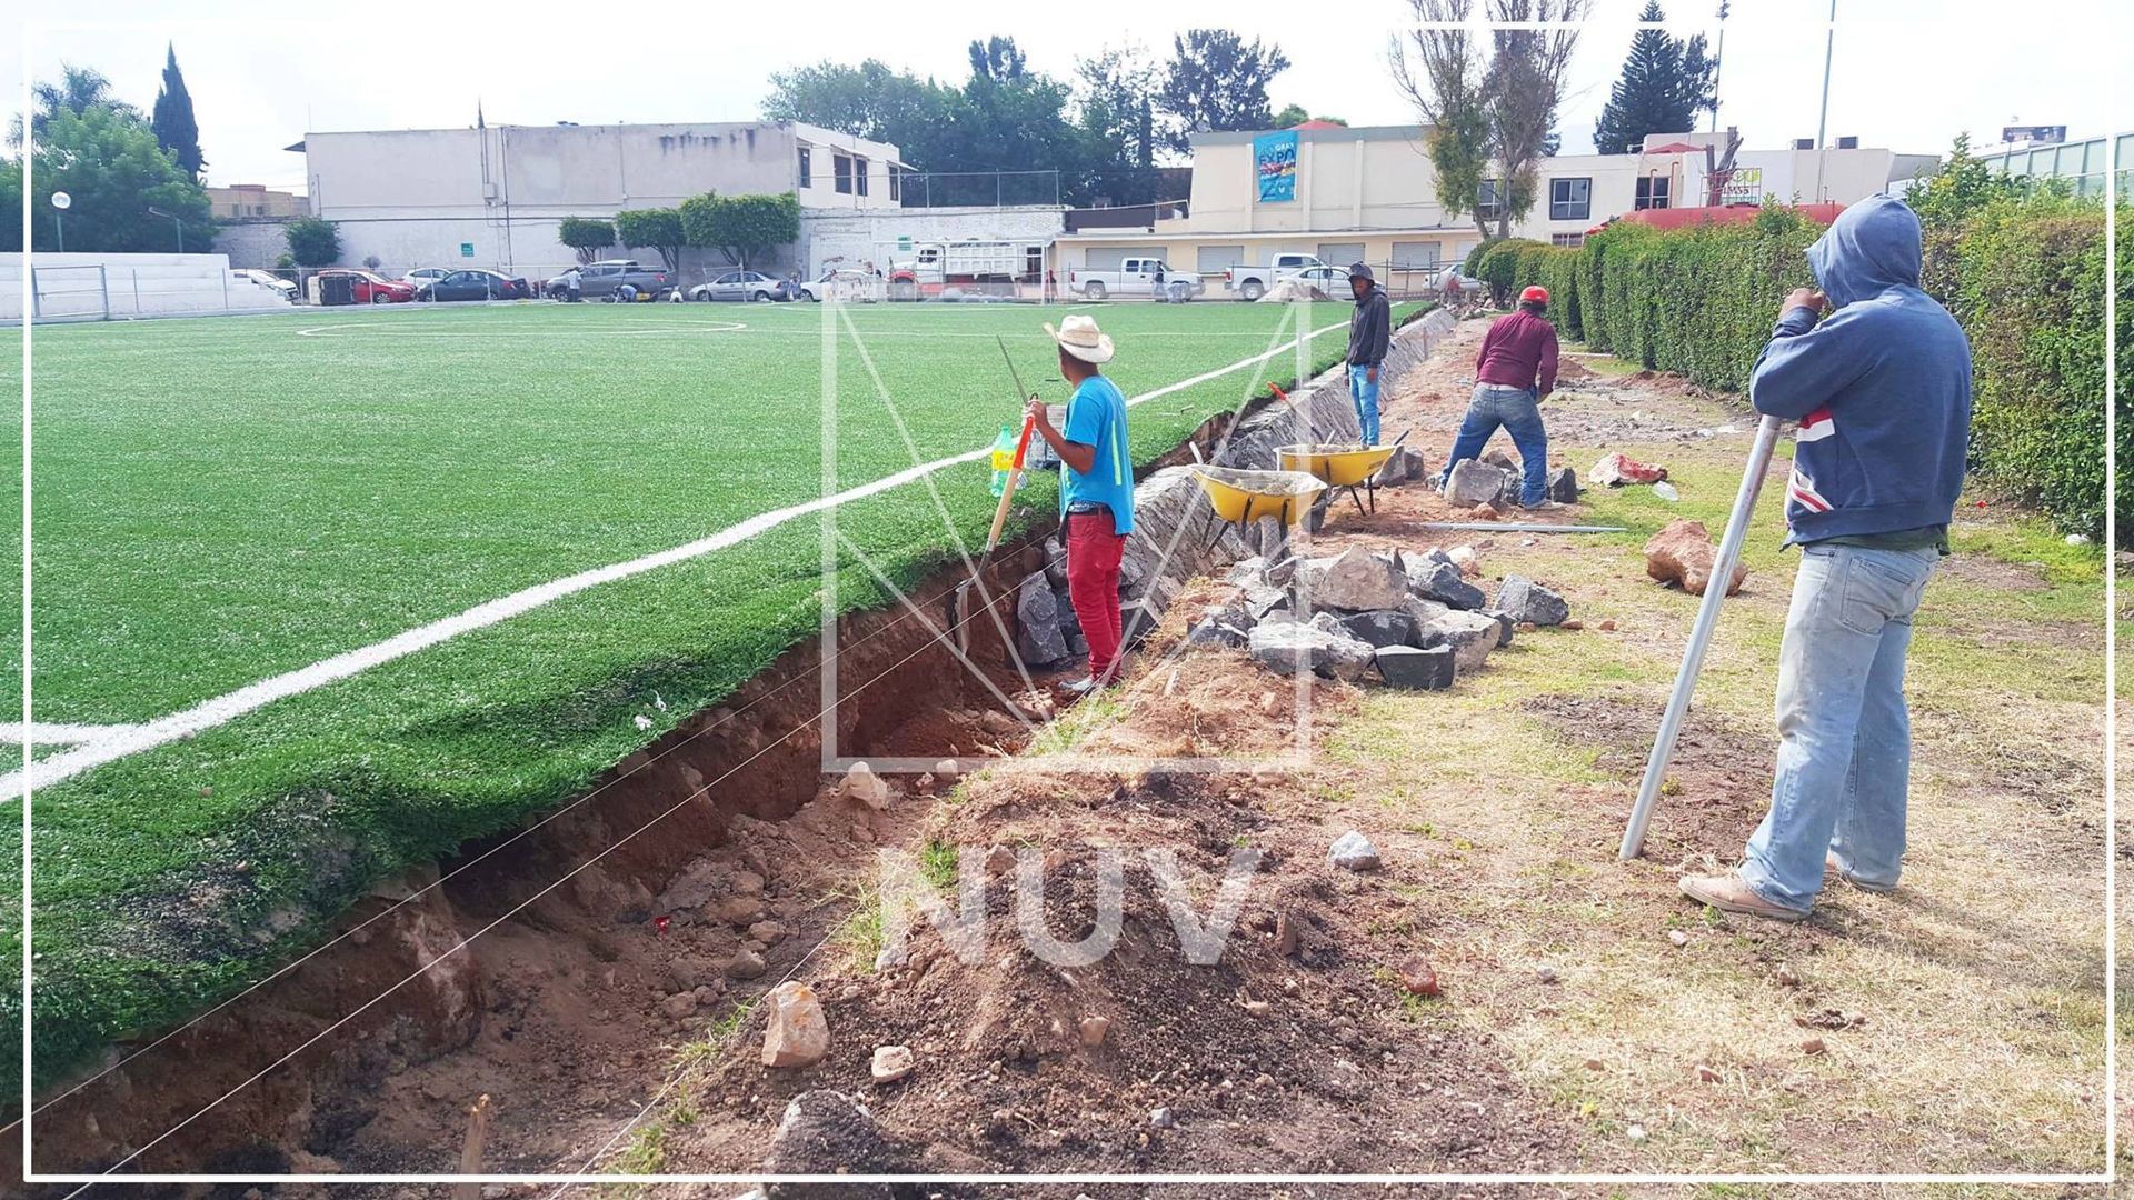
[[[1323,333],[1332,333],[1336,329],[1342,329],[1344,325],[1347,322],[1325,325],[1321,329],[1310,331],[1308,337],[1319,337]],[[1274,359],[1276,354],[1283,354],[1283,352],[1291,350],[1295,346],[1295,342],[1297,340],[1291,337],[1289,342],[1283,342],[1274,350],[1265,350],[1265,352],[1253,354],[1248,359],[1238,359],[1236,363],[1231,363],[1227,367],[1216,367],[1212,372],[1204,372],[1204,374],[1197,374],[1193,378],[1159,386],[1154,391],[1148,391],[1148,393],[1142,393],[1142,395],[1129,399],[1127,404],[1129,406],[1133,406],[1133,404],[1146,404],[1150,399],[1159,399],[1159,397],[1172,395],[1176,391],[1184,391],[1189,386],[1199,386],[1199,384],[1204,384],[1208,380],[1223,378],[1223,376],[1227,376],[1231,372],[1242,372],[1244,367],[1251,367],[1255,363],[1263,363],[1268,359]],[[679,562],[689,562],[694,557],[702,557],[702,555],[708,555],[713,551],[723,551],[728,547],[736,547],[740,542],[747,542],[749,538],[755,538],[760,534],[777,530],[779,525],[785,525],[787,521],[807,517],[811,512],[822,512],[824,508],[834,508],[839,504],[851,504],[854,500],[866,500],[869,495],[879,495],[883,491],[890,491],[890,489],[903,487],[907,483],[915,483],[920,478],[926,478],[928,474],[933,474],[937,470],[943,470],[943,468],[982,461],[992,451],[988,446],[988,448],[967,451],[967,453],[960,453],[960,455],[950,455],[945,459],[935,459],[930,463],[920,463],[920,465],[913,465],[913,468],[905,468],[905,470],[901,470],[896,474],[881,476],[881,478],[877,478],[873,483],[862,483],[858,487],[849,487],[849,489],[839,491],[834,495],[822,495],[822,498],[809,500],[805,504],[790,504],[785,508],[775,508],[770,512],[760,512],[755,517],[749,517],[747,521],[728,525],[728,527],[719,530],[717,534],[711,534],[708,538],[698,538],[694,542],[685,542],[681,547],[666,549],[666,551],[659,551],[659,553],[651,553],[651,555],[644,555],[644,557],[634,557],[630,562],[600,566],[600,568],[593,568],[593,570],[580,570],[578,574],[568,574],[563,579],[553,579],[548,583],[538,583],[534,587],[525,587],[521,591],[512,591],[510,596],[499,596],[495,600],[487,600],[487,602],[476,604],[474,609],[467,609],[463,613],[455,613],[450,617],[442,617],[442,619],[431,621],[427,626],[416,626],[416,628],[412,628],[408,632],[401,632],[401,634],[395,634],[395,636],[391,636],[386,641],[371,643],[367,647],[359,647],[359,649],[350,649],[350,651],[337,653],[333,658],[314,662],[312,666],[299,666],[297,670],[286,670],[282,675],[271,675],[267,679],[260,679],[258,683],[248,683],[248,685],[243,685],[243,688],[239,688],[235,692],[226,692],[226,694],[216,696],[211,700],[203,700],[203,702],[198,702],[198,705],[194,705],[190,709],[181,709],[177,713],[169,713],[164,717],[156,717],[152,722],[143,722],[143,724],[137,724],[137,726],[113,726],[113,732],[109,737],[98,737],[94,741],[75,745],[73,749],[64,749],[60,754],[53,754],[53,756],[49,756],[49,758],[45,758],[41,762],[34,762],[34,764],[26,767],[23,771],[11,771],[4,777],[0,777],[0,803],[13,803],[13,801],[21,799],[21,792],[23,792],[23,773],[26,771],[30,775],[30,786],[32,788],[45,788],[45,786],[58,784],[62,779],[73,779],[75,775],[81,775],[83,771],[92,771],[92,769],[102,767],[107,762],[115,762],[120,758],[128,758],[128,756],[141,754],[143,749],[154,749],[158,745],[166,745],[171,741],[179,741],[179,739],[192,737],[196,732],[211,730],[211,728],[228,724],[228,722],[233,722],[233,720],[237,720],[237,717],[241,717],[241,715],[245,715],[245,713],[250,713],[254,709],[271,705],[273,700],[282,700],[282,698],[288,698],[288,696],[301,696],[301,694],[312,692],[316,688],[324,688],[327,683],[335,683],[335,681],[348,679],[352,675],[361,675],[361,673],[365,673],[365,670],[369,670],[373,666],[384,666],[386,662],[393,662],[397,658],[405,658],[405,656],[410,656],[410,653],[414,653],[418,649],[427,649],[427,647],[433,647],[437,643],[457,638],[459,634],[482,630],[482,628],[495,626],[499,621],[508,621],[512,617],[519,617],[523,613],[531,613],[534,609],[540,609],[544,604],[553,604],[553,602],[557,602],[557,600],[561,600],[566,596],[574,596],[574,594],[585,591],[589,587],[598,587],[602,583],[615,583],[619,579],[630,579],[634,574],[644,574],[649,570],[659,570],[662,566],[672,566],[672,564],[679,564]]]

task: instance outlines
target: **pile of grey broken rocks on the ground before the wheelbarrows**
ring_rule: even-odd
[[[1244,647],[1272,670],[1361,679],[1372,668],[1396,688],[1449,688],[1511,643],[1517,621],[1485,609],[1460,551],[1368,551],[1334,557],[1240,562],[1238,587],[1201,617],[1191,645]],[[1554,596],[1554,594],[1551,594]]]

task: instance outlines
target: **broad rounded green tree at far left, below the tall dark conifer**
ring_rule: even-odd
[[[38,252],[58,248],[55,222],[45,220],[55,190],[75,201],[66,209],[68,250],[203,250],[216,231],[207,190],[171,162],[139,113],[120,107],[90,105],[79,113],[60,107],[49,113],[36,137],[32,179],[36,194],[30,196],[30,211],[38,218],[32,250]],[[169,216],[149,214],[152,207]]]

